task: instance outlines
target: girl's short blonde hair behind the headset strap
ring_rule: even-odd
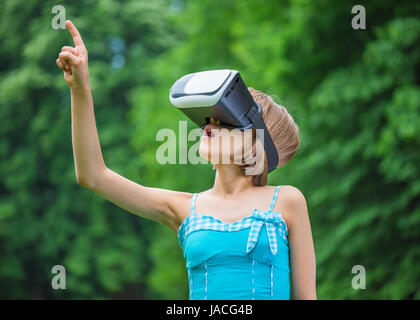
[[[253,99],[262,107],[262,117],[265,125],[270,133],[271,139],[277,149],[279,162],[276,168],[288,163],[296,154],[300,146],[299,127],[295,123],[293,117],[282,105],[274,102],[273,97],[252,87],[248,88]],[[252,149],[255,152],[256,133],[253,129]],[[245,174],[245,168],[252,166],[246,159],[242,159],[241,171]],[[264,153],[264,170],[259,175],[254,175],[252,183],[254,186],[265,186],[267,184],[268,163],[267,155]]]

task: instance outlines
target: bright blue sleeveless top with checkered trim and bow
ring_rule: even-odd
[[[191,213],[178,229],[188,271],[191,300],[290,299],[287,225],[269,210],[225,223],[213,216]]]

